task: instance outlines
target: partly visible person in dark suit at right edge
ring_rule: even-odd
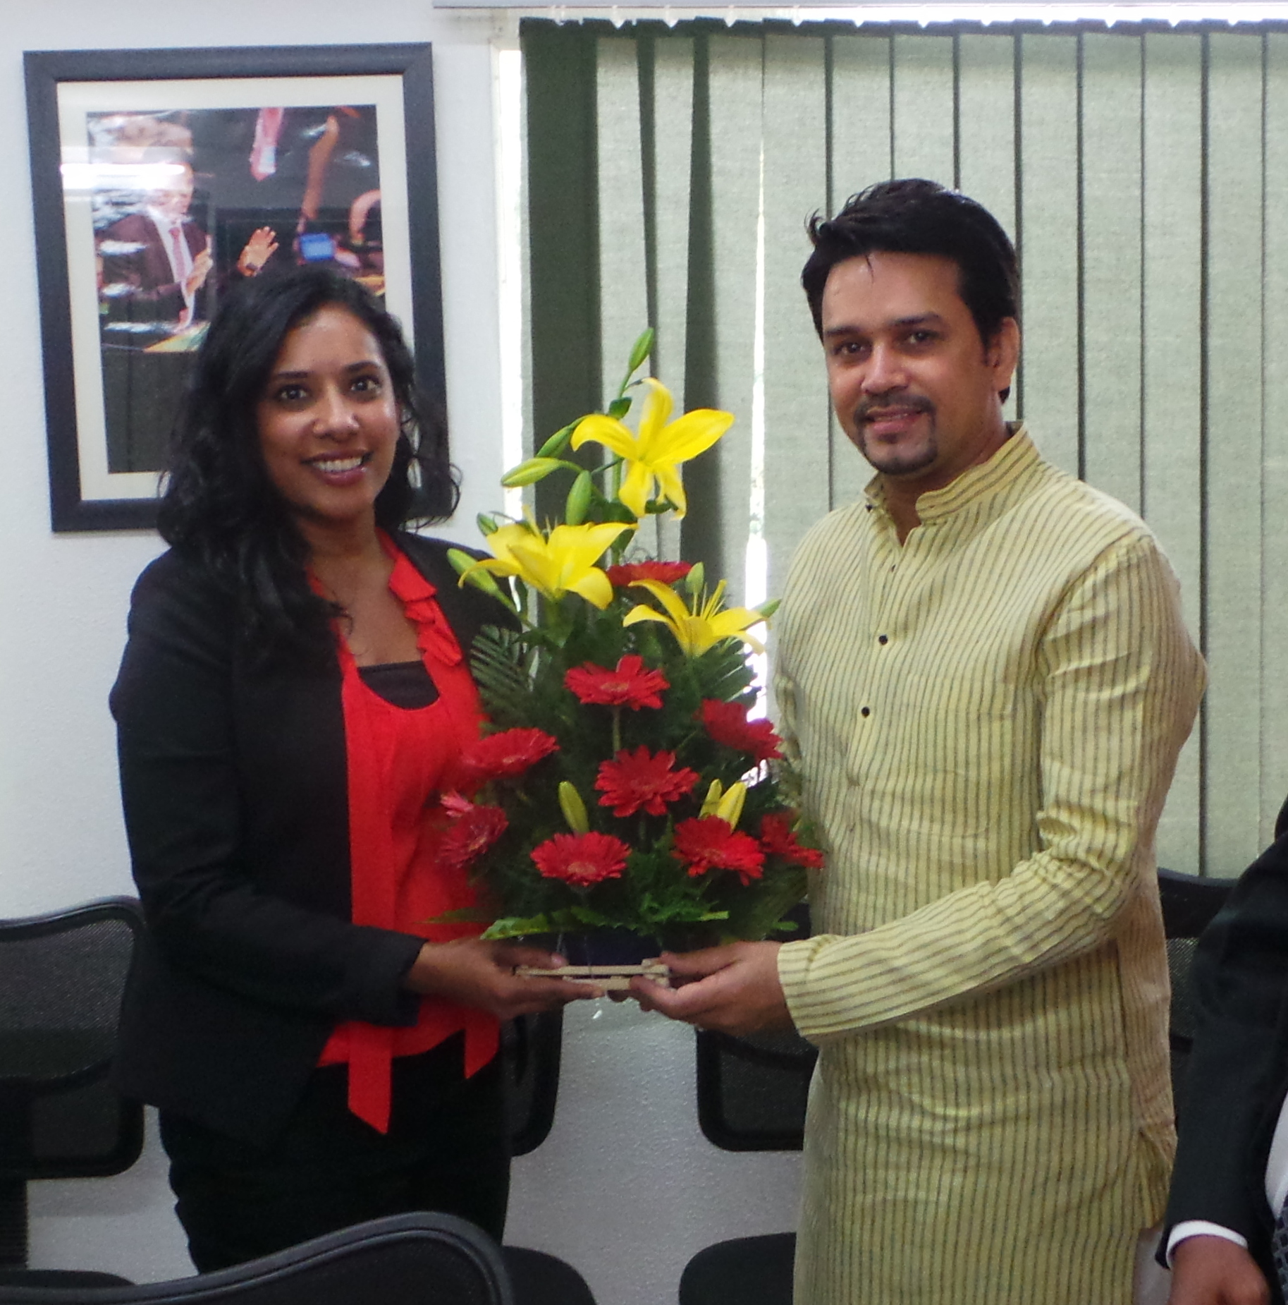
[[[1283,1305],[1271,1242],[1288,1186],[1288,803],[1274,843],[1203,932],[1193,983],[1198,1027],[1162,1242],[1168,1301]]]

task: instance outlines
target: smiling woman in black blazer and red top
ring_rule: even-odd
[[[478,733],[465,655],[506,616],[400,532],[455,493],[361,287],[302,268],[229,295],[112,690],[149,921],[117,1077],[160,1108],[201,1271],[413,1208],[499,1238],[497,1022],[597,994],[426,923],[472,902],[439,796]]]

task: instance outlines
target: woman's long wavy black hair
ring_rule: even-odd
[[[197,354],[171,437],[158,529],[236,596],[259,655],[321,655],[327,643],[319,636],[335,615],[309,587],[308,545],[265,470],[256,422],[256,405],[287,335],[332,304],[375,337],[400,414],[375,523],[392,531],[441,521],[459,497],[446,422],[417,393],[398,322],[362,286],[323,268],[265,273],[236,286]]]

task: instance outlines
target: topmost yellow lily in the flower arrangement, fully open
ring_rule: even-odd
[[[572,432],[572,448],[580,449],[593,440],[627,463],[618,497],[636,517],[644,515],[648,501],[654,497],[654,487],[660,497],[675,505],[675,515],[683,517],[688,501],[679,465],[705,453],[734,424],[734,416],[717,408],[695,408],[670,422],[670,390],[651,376],[644,384],[648,395],[640,414],[639,437],[631,435],[617,418],[593,412],[583,418]]]

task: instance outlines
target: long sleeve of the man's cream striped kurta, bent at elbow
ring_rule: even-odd
[[[1152,870],[1154,829],[1205,675],[1176,579],[1146,532],[1109,545],[1070,585],[1042,633],[1034,675],[1034,853],[1000,881],[970,883],[870,932],[783,945],[778,972],[806,1037],[969,998],[1113,936],[1146,864]],[[780,694],[790,737],[790,679]]]

